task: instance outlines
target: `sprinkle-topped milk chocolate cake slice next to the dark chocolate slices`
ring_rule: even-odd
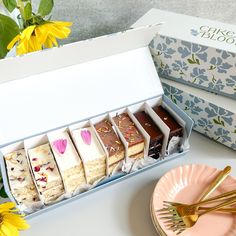
[[[113,117],[122,135],[128,143],[128,157],[139,159],[144,157],[144,138],[127,113]]]

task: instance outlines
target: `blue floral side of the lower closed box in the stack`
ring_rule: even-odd
[[[236,150],[236,114],[163,83],[165,95],[194,121],[194,130]]]

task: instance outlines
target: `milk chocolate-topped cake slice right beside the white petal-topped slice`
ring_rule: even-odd
[[[108,152],[108,174],[112,173],[116,165],[124,160],[125,148],[120,138],[113,130],[112,124],[105,119],[95,125],[104,146]]]

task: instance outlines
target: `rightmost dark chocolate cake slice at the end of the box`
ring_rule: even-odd
[[[162,106],[155,106],[153,108],[155,113],[161,118],[161,120],[169,127],[170,137],[183,136],[183,128],[175,121],[171,114],[165,110]]]

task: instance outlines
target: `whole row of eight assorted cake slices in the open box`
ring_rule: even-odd
[[[182,135],[182,127],[163,107],[157,106],[154,111],[170,128],[170,138]],[[145,112],[134,115],[150,135],[149,156],[158,158],[162,132]],[[49,143],[31,148],[27,153],[21,149],[5,155],[9,184],[16,201],[31,205],[42,200],[50,204],[64,193],[73,193],[110,175],[126,156],[143,158],[144,137],[129,115],[117,115],[113,121],[128,143],[127,153],[112,123],[105,119],[94,127],[72,131],[73,141],[66,131],[54,132],[48,135]]]

